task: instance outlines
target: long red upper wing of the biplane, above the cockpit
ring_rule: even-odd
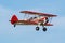
[[[38,13],[38,12],[32,12],[32,11],[21,11],[20,13],[32,14],[32,15],[39,15],[39,16],[48,16],[48,17],[56,17],[57,16],[57,15],[52,15],[52,14],[47,14],[47,13]]]

